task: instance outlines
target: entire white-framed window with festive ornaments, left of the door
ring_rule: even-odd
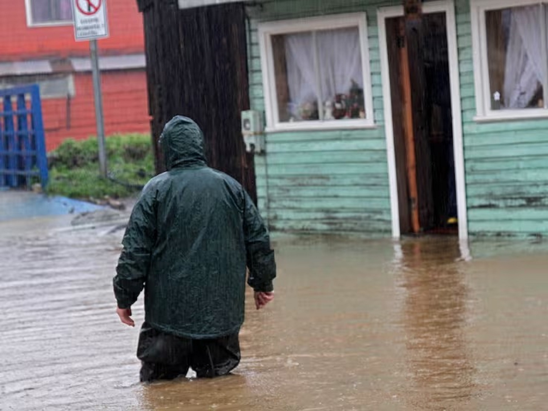
[[[259,33],[270,128],[373,124],[364,14],[266,23]]]

